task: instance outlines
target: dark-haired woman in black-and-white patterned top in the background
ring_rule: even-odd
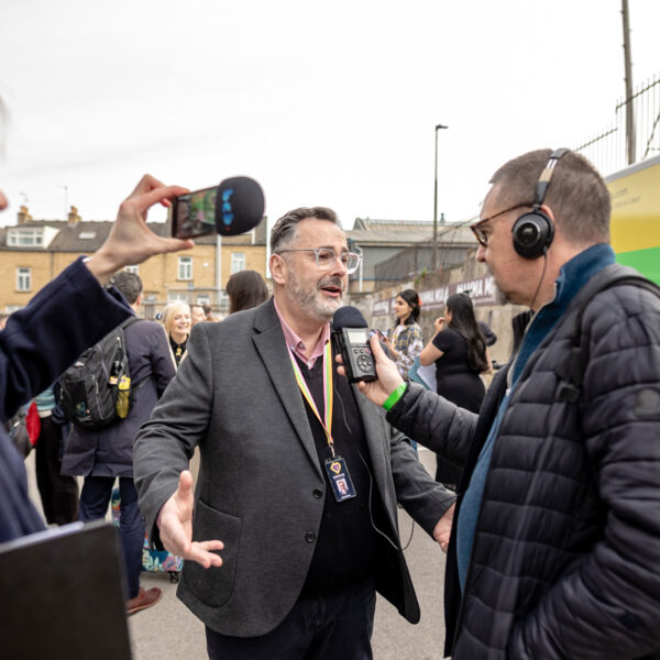
[[[424,349],[424,333],[417,322],[421,301],[415,289],[404,289],[394,300],[395,326],[385,343],[403,378]]]

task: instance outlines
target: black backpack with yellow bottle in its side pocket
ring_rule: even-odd
[[[123,331],[140,320],[125,320],[87,349],[59,378],[62,408],[76,426],[100,429],[129,414],[134,388]]]

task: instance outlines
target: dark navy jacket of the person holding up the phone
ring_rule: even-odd
[[[63,271],[0,331],[0,421],[48,387],[86,348],[130,315],[123,297],[100,287],[81,258]],[[43,528],[28,497],[23,460],[2,425],[0,542]]]

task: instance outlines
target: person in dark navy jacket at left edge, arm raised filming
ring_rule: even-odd
[[[185,188],[142,178],[120,206],[103,245],[90,257],[78,258],[46,285],[30,304],[10,316],[0,331],[0,421],[43,392],[88,346],[131,315],[116,289],[106,289],[112,275],[127,264],[154,254],[191,248],[191,241],[155,235],[146,227],[146,211],[156,202],[182,195]],[[0,210],[8,201],[0,191]],[[0,425],[0,542],[44,529],[28,495],[22,457]],[[29,613],[26,613],[26,616]]]

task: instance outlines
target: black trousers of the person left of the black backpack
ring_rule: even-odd
[[[41,418],[41,432],[34,449],[36,487],[50,525],[66,525],[78,519],[78,484],[61,474],[62,427],[52,417]]]

